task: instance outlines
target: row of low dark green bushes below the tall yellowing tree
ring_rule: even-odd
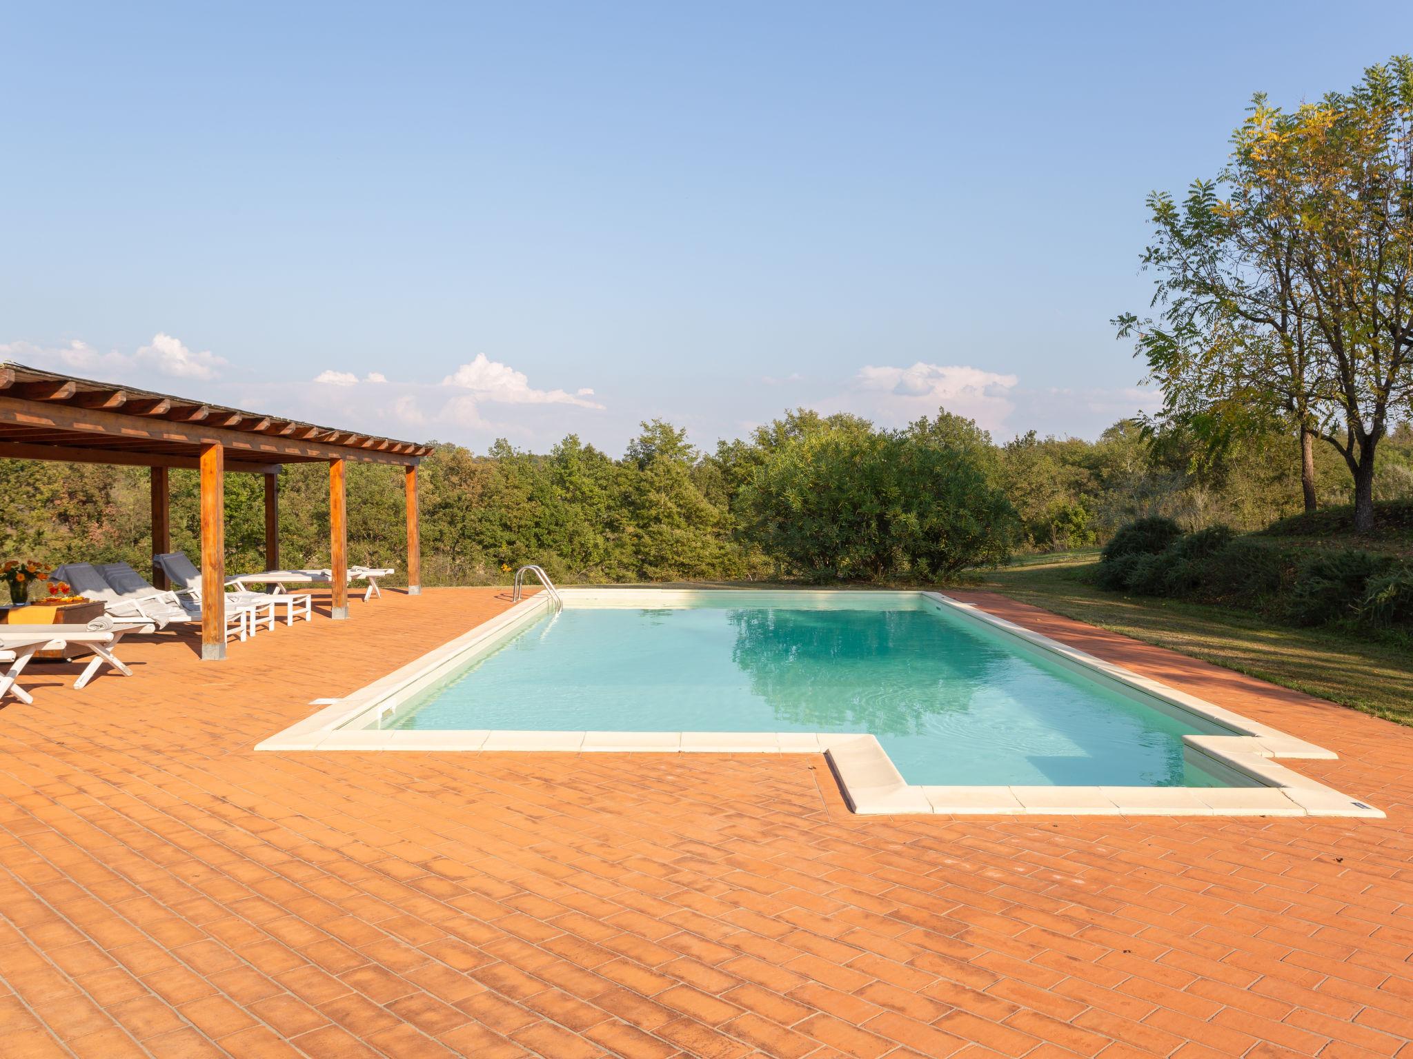
[[[1222,525],[1184,534],[1170,518],[1122,527],[1104,549],[1096,583],[1113,592],[1255,610],[1297,626],[1413,624],[1407,562],[1238,537]]]

